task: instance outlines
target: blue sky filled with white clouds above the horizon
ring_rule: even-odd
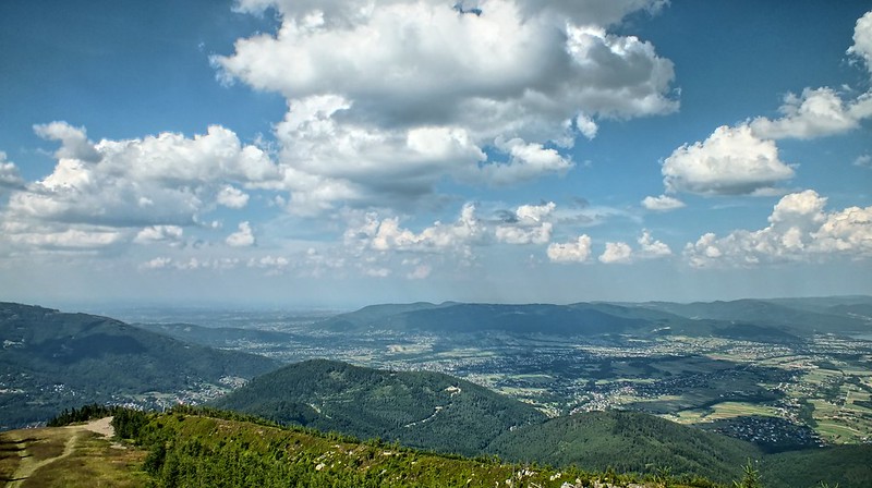
[[[0,301],[872,294],[872,8],[0,2]]]

